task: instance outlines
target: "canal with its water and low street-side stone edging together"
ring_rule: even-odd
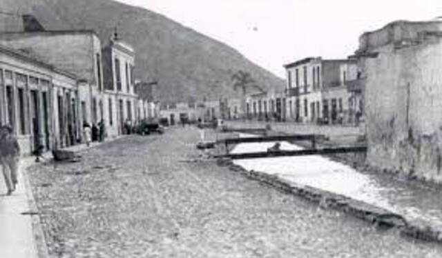
[[[273,143],[241,143],[233,152],[265,151]],[[282,142],[282,148],[299,148]],[[332,159],[279,157],[234,161],[234,170],[286,192],[301,195],[322,206],[343,210],[371,222],[394,224],[405,235],[441,241],[442,209],[439,188],[401,178],[358,171]],[[405,218],[405,221],[401,218]]]

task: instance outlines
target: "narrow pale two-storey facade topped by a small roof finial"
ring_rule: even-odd
[[[137,119],[135,93],[135,50],[117,34],[103,48],[105,118],[111,135],[124,132],[124,124]]]

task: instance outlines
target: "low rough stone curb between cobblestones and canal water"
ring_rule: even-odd
[[[320,190],[310,186],[281,179],[276,175],[264,172],[247,171],[233,164],[231,159],[218,159],[218,166],[227,166],[230,170],[240,172],[245,177],[265,183],[281,192],[302,197],[307,201],[318,204],[321,208],[331,208],[368,221],[380,228],[398,228],[401,235],[423,241],[433,241],[442,244],[442,231],[429,225],[419,225],[409,222],[402,215],[380,208],[364,201],[338,195],[334,192]]]

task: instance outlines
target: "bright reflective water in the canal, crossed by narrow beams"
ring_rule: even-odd
[[[266,151],[273,144],[240,143],[231,153]],[[283,141],[281,149],[299,150],[300,147]],[[403,215],[409,221],[422,221],[442,228],[441,190],[399,181],[387,175],[358,172],[318,155],[240,159],[235,163],[247,170],[267,172],[302,185],[365,201]]]

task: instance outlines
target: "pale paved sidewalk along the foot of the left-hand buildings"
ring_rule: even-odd
[[[115,141],[123,136],[115,137],[102,143]],[[71,146],[66,150],[75,152],[93,148],[102,143]],[[51,159],[50,152],[43,155]],[[35,157],[22,157],[19,166],[19,184],[11,196],[6,196],[6,185],[0,168],[0,258],[46,258],[48,251],[46,241],[39,223],[39,215],[34,204],[32,190],[28,183],[26,170],[35,164]]]

